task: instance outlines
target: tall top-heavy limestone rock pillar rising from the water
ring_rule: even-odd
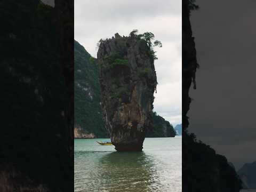
[[[142,150],[156,90],[150,47],[135,35],[100,41],[98,51],[103,116],[118,151]]]

